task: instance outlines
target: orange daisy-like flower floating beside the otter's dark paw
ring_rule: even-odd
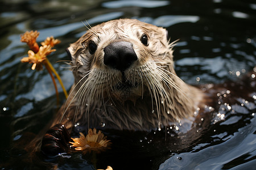
[[[86,152],[96,151],[100,152],[109,148],[110,141],[106,140],[106,137],[99,130],[98,133],[94,128],[88,130],[86,137],[84,134],[80,133],[79,138],[71,138],[74,142],[69,142],[72,144],[72,147],[76,147],[75,150]]]

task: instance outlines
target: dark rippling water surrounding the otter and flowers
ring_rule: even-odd
[[[4,0],[0,4],[2,169],[46,169],[49,164],[59,169],[93,169],[91,158],[80,153],[53,159],[40,155],[31,158],[16,147],[25,146],[57,110],[47,71],[32,71],[31,65],[20,63],[28,50],[19,41],[20,34],[27,30],[38,30],[39,42],[51,35],[61,40],[49,60],[66,88],[73,83],[72,73],[64,62],[56,61],[69,59],[65,48],[86,32],[81,23],[85,19],[96,25],[110,19],[136,18],[166,27],[172,41],[179,39],[174,48],[175,70],[189,84],[239,83],[239,78],[256,65],[254,1]],[[237,87],[231,93],[231,103],[220,99],[230,95],[220,91],[216,96],[218,107],[191,131],[182,131],[189,125],[181,122],[151,133],[109,132],[112,150],[97,155],[97,168],[111,165],[114,169],[253,169],[256,90],[253,84],[248,87],[250,91],[243,84]],[[249,96],[246,98],[245,94]],[[61,101],[64,102],[62,93]],[[27,141],[20,143],[22,138]]]

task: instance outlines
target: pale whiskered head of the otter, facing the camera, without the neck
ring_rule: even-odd
[[[68,48],[77,96],[86,103],[164,98],[163,86],[174,84],[169,76],[173,44],[167,36],[166,29],[135,19],[90,28]]]

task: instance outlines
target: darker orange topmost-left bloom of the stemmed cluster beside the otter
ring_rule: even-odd
[[[30,47],[30,49],[34,52],[37,53],[39,50],[38,43],[36,43],[36,39],[39,36],[38,31],[30,31],[30,32],[25,32],[23,35],[20,35],[22,42],[27,42],[27,45]]]

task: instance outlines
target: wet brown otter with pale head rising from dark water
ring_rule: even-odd
[[[207,96],[176,75],[174,45],[166,29],[136,19],[89,28],[67,48],[75,83],[51,126],[148,131],[192,117]]]

